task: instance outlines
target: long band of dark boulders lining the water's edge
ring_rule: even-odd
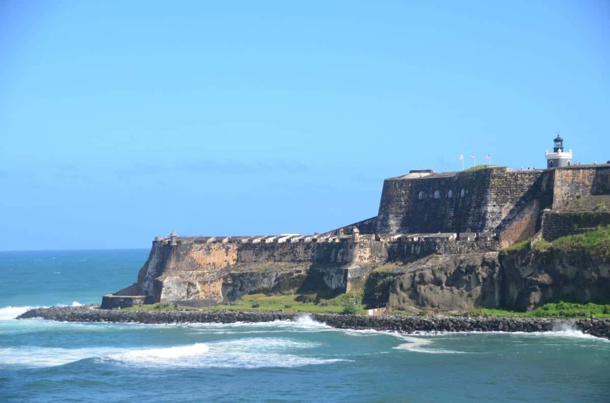
[[[414,332],[549,332],[564,328],[610,339],[610,319],[519,318],[308,314],[314,320],[338,329],[375,329],[378,331]],[[43,318],[69,322],[117,323],[235,323],[292,320],[299,315],[284,312],[214,311],[136,311],[105,310],[93,306],[48,307],[30,309],[17,319]]]

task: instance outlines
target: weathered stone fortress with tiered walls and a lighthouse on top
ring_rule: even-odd
[[[386,179],[377,216],[322,234],[156,237],[138,281],[104,296],[102,308],[159,301],[210,304],[249,292],[295,289],[342,293],[386,267],[397,273],[395,287],[404,288],[400,277],[406,273],[439,268],[453,273],[467,264],[484,267],[487,274],[465,278],[470,286],[454,289],[447,286],[447,270],[440,282],[427,279],[418,285],[412,275],[408,286],[416,292],[407,293],[410,300],[400,300],[397,288],[396,298],[390,296],[387,303],[442,307],[449,298],[447,306],[451,301],[459,307],[501,305],[506,301],[499,295],[487,301],[483,283],[500,265],[502,247],[610,225],[610,165],[574,165],[572,150],[563,152],[562,142],[554,139],[547,169],[411,170]],[[447,259],[461,260],[448,268]],[[418,296],[422,290],[417,287],[430,281],[439,282],[444,295],[436,303]]]

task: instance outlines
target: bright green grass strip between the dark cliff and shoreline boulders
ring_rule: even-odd
[[[610,304],[576,304],[576,303],[548,303],[529,310],[528,312],[515,312],[514,310],[475,308],[468,311],[471,316],[492,317],[524,317],[524,318],[610,318]]]

